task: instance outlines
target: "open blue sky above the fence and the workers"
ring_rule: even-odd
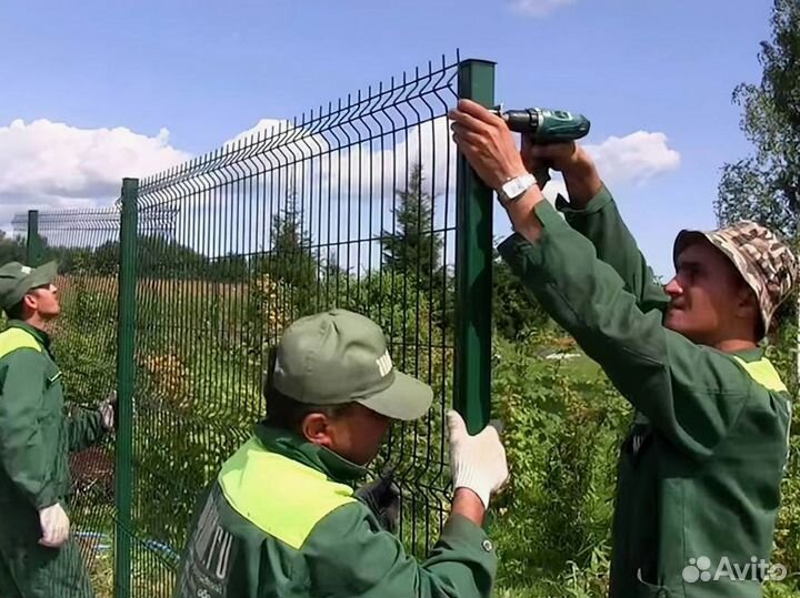
[[[766,0],[6,2],[0,219],[28,206],[108,203],[109,184],[118,186],[122,173],[147,174],[126,169],[158,170],[161,160],[212,150],[261,119],[291,118],[460,48],[462,58],[498,63],[497,99],[506,105],[590,116],[587,143],[608,168],[646,255],[669,275],[674,233],[714,225],[719,169],[750,151],[731,92],[760,78],[757,53],[769,37],[770,7]],[[41,120],[61,124],[30,126]],[[109,146],[73,136],[114,128],[128,133],[103,138]],[[609,144],[612,136],[628,143]],[[128,145],[118,155],[120,144]],[[137,150],[147,156],[132,155]],[[622,151],[639,153],[617,155]],[[496,232],[507,231],[498,219]]]

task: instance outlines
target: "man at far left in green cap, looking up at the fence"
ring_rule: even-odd
[[[93,596],[70,537],[69,453],[114,427],[114,398],[67,415],[46,332],[61,311],[54,262],[0,267],[0,598]]]

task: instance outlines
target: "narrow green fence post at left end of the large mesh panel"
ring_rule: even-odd
[[[122,180],[120,222],[119,320],[117,346],[117,545],[114,550],[114,597],[131,595],[131,496],[133,453],[133,386],[137,292],[137,196],[139,180]]]

